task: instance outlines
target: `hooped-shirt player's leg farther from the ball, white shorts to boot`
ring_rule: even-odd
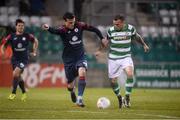
[[[130,95],[132,93],[132,88],[134,86],[134,65],[133,65],[133,62],[132,62],[132,59],[131,58],[127,58],[126,60],[126,67],[124,68],[124,71],[127,75],[127,80],[126,80],[126,85],[125,85],[125,88],[126,88],[126,93],[125,93],[125,106],[126,107],[130,107],[131,104],[130,104]]]

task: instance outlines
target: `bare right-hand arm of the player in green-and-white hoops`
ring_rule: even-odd
[[[143,46],[145,52],[149,51],[148,45],[144,42],[144,39],[138,33],[135,34],[134,39]]]

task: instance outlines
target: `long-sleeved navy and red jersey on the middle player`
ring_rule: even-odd
[[[95,32],[100,39],[103,39],[101,32],[93,27],[82,22],[76,22],[73,29],[68,29],[65,26],[59,28],[49,28],[49,32],[60,35],[64,45],[63,61],[65,64],[70,64],[84,58],[85,50],[83,45],[83,31]]]

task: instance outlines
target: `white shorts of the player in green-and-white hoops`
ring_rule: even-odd
[[[128,66],[134,68],[134,64],[131,57],[125,57],[123,59],[108,60],[108,76],[109,78],[119,77],[122,70]]]

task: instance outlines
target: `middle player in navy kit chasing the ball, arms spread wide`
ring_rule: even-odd
[[[62,58],[66,78],[68,80],[67,88],[71,93],[72,102],[76,103],[80,107],[84,107],[85,105],[82,97],[86,86],[87,60],[82,40],[83,31],[87,30],[95,32],[101,40],[103,40],[103,36],[97,28],[87,25],[86,23],[76,21],[73,13],[65,13],[63,19],[64,25],[57,29],[49,27],[47,24],[44,24],[42,28],[44,30],[48,30],[52,34],[60,35],[62,38],[64,45]],[[74,80],[76,77],[79,77],[77,98],[74,91]]]

